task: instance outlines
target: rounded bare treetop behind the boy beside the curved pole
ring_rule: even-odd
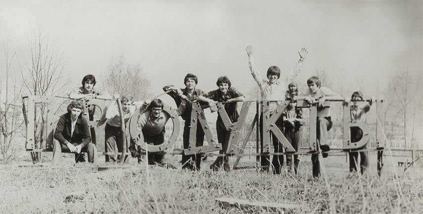
[[[150,80],[141,65],[127,64],[120,55],[111,59],[106,71],[106,87],[110,93],[132,96],[135,100],[150,98]]]

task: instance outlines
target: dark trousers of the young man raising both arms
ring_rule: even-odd
[[[270,114],[270,116],[272,116],[272,114]],[[282,130],[282,127],[283,127],[282,117],[279,118],[275,124],[280,130]],[[263,152],[263,144],[264,144],[263,142],[263,113],[260,114],[259,131],[260,131],[260,147],[261,147],[261,152]],[[275,153],[283,152],[283,145],[282,143],[279,143],[278,138],[273,133],[270,134],[270,137],[272,138],[274,152]],[[260,165],[261,165],[261,169],[267,172],[269,170],[269,165],[270,165],[270,155],[261,155]],[[283,167],[283,155],[273,155],[272,165],[274,169],[273,173],[280,174],[281,168]]]

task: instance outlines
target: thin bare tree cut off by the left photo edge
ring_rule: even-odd
[[[22,87],[16,87],[16,75],[14,79],[11,78],[12,74],[15,74],[12,71],[12,64],[14,64],[16,51],[11,49],[8,40],[3,43],[3,50],[5,68],[4,77],[0,82],[0,160],[9,162],[16,157],[16,152],[19,150],[15,144],[15,135],[20,132],[23,124],[23,120],[19,119],[20,107],[17,106]]]

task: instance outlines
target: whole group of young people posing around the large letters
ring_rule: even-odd
[[[282,131],[285,138],[291,143],[292,147],[298,151],[301,145],[301,126],[305,124],[305,119],[302,115],[301,108],[296,107],[297,100],[305,100],[309,104],[317,105],[317,143],[319,149],[327,152],[329,151],[328,131],[332,127],[332,121],[330,118],[329,107],[325,107],[324,103],[327,100],[339,100],[341,97],[334,93],[327,87],[323,87],[321,81],[317,76],[311,76],[307,79],[308,90],[304,93],[298,92],[297,83],[294,79],[297,74],[301,71],[304,59],[307,54],[307,50],[302,48],[299,53],[299,60],[293,71],[286,75],[284,81],[281,81],[281,71],[277,66],[271,66],[267,73],[267,78],[262,78],[253,61],[253,48],[247,46],[246,48],[248,55],[248,66],[254,80],[257,82],[261,91],[261,101],[269,101],[269,114],[272,115],[276,112],[278,104],[281,101],[290,101],[286,109],[283,111],[282,116],[275,123],[276,126]],[[89,162],[95,162],[96,160],[96,147],[95,147],[95,131],[94,128],[91,130],[88,128],[87,121],[81,117],[81,113],[84,112],[84,105],[79,102],[81,99],[89,100],[93,98],[101,99],[112,99],[108,94],[102,94],[94,91],[94,85],[96,81],[93,75],[87,75],[82,80],[82,86],[77,90],[69,94],[69,98],[75,99],[68,106],[68,112],[63,114],[54,133],[54,138],[57,140],[54,143],[53,148],[53,162],[57,160],[57,152],[66,150],[75,153],[75,161],[83,162],[84,157],[81,155],[82,151],[88,153]],[[289,83],[289,84],[288,84]],[[216,102],[223,103],[225,110],[232,121],[236,123],[239,117],[237,111],[237,103],[245,100],[245,96],[239,92],[235,87],[232,86],[230,79],[226,76],[221,76],[217,79],[216,85],[218,89],[212,90],[205,93],[203,90],[197,88],[198,78],[192,73],[188,73],[184,78],[185,88],[176,88],[173,85],[163,87],[163,90],[171,96],[176,106],[178,107],[178,113],[185,121],[183,131],[183,146],[188,148],[189,145],[189,131],[191,119],[191,110],[193,102],[200,102],[205,106],[212,107],[216,106]],[[114,97],[116,99],[116,97]],[[122,152],[123,141],[126,141],[125,133],[121,130],[121,118],[116,105],[115,99],[112,99],[107,109],[104,111],[106,118],[105,126],[105,151],[114,152],[115,144],[118,152]],[[360,107],[358,100],[363,100],[363,95],[360,92],[354,92],[351,100],[351,119],[352,120],[364,120],[365,114],[369,111],[372,102],[369,102],[365,107]],[[126,123],[133,113],[136,111],[136,107],[133,105],[134,100],[131,97],[122,97],[122,110],[124,115],[124,122]],[[345,102],[349,102],[345,100]],[[207,105],[206,105],[207,104]],[[137,133],[142,134],[144,143],[159,145],[165,141],[165,124],[169,120],[170,116],[168,113],[163,112],[163,102],[159,99],[144,100],[142,107],[140,107],[140,116],[137,119]],[[263,110],[263,108],[261,108]],[[90,120],[94,118],[95,107],[89,107]],[[267,112],[266,112],[267,113]],[[263,115],[264,112],[260,113],[259,116],[259,133],[261,139],[261,147],[263,151]],[[204,132],[200,125],[197,123],[196,127],[196,146],[201,146],[204,141]],[[90,135],[91,131],[91,135]],[[218,115],[216,121],[216,131],[218,142],[222,143],[223,148],[220,150],[220,154],[224,154],[228,146],[229,138],[232,131],[227,131],[222,118]],[[271,138],[273,139],[275,153],[283,152],[283,145],[278,141],[278,138],[274,134]],[[360,129],[351,129],[352,141],[358,141],[361,139]],[[129,150],[132,157],[138,157],[141,161],[140,146],[131,139]],[[201,166],[201,154],[185,155],[182,154],[182,168],[189,170],[199,170]],[[357,171],[357,152],[350,153],[350,171]],[[367,153],[360,152],[360,165],[361,172],[363,173],[368,167]],[[148,164],[158,164],[162,166],[170,166],[164,161],[163,152],[148,152]],[[293,160],[292,160],[293,157]],[[327,153],[323,153],[323,157],[327,157]],[[105,161],[117,161],[120,157],[115,155],[106,155]],[[312,154],[311,156],[313,165],[313,176],[320,176],[320,162],[318,154]],[[283,172],[283,155],[273,155],[272,161],[270,161],[269,155],[261,156],[261,170],[268,172],[271,168],[274,174],[281,174]],[[293,164],[293,167],[292,167]],[[298,155],[286,155],[286,165],[288,172],[298,173],[299,159]],[[216,161],[210,166],[211,170],[219,170],[223,168],[225,171],[230,171],[228,156],[219,156]]]

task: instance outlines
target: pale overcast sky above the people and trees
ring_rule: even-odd
[[[89,73],[101,85],[111,57],[123,55],[141,64],[155,94],[184,86],[187,72],[205,91],[227,75],[247,92],[255,84],[245,53],[251,44],[263,77],[272,65],[282,76],[291,71],[306,47],[298,82],[324,69],[376,95],[393,73],[422,73],[422,23],[421,0],[0,1],[0,40],[9,38],[18,53],[41,27],[69,58],[73,85]]]

